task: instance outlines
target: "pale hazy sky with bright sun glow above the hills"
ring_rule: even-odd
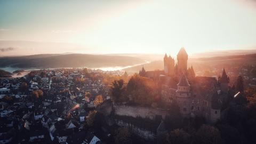
[[[0,1],[0,55],[256,49],[255,0]]]

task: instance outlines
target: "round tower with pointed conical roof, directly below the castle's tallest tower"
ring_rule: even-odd
[[[176,91],[176,99],[180,107],[180,112],[183,116],[187,117],[191,112],[191,92],[190,84],[184,73],[181,76],[177,86],[178,89]]]

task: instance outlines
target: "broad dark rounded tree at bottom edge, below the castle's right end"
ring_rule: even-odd
[[[200,129],[196,132],[195,142],[202,144],[217,144],[221,143],[220,132],[213,126],[210,125],[202,125]]]

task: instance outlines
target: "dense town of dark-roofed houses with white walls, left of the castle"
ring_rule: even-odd
[[[86,68],[55,69],[1,78],[0,143],[99,143],[94,131],[87,130],[85,117],[109,99],[102,82],[108,79],[102,74]],[[107,130],[103,134],[110,137]]]

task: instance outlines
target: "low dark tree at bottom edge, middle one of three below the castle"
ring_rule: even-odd
[[[187,144],[190,143],[190,135],[182,129],[175,129],[167,134],[167,143]]]

